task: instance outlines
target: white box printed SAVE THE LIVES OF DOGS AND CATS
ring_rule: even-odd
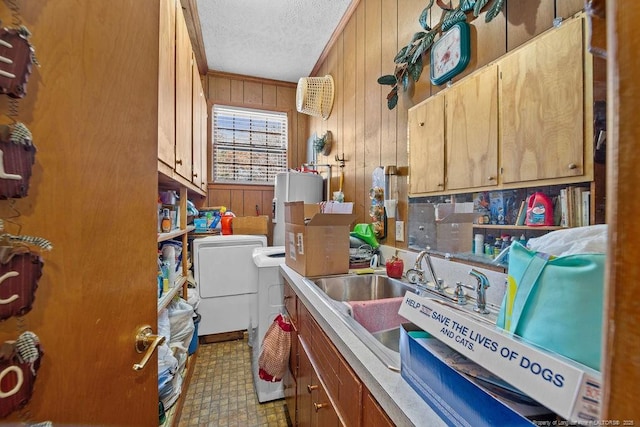
[[[407,292],[398,314],[558,415],[576,423],[600,419],[600,372],[528,344],[433,298]],[[402,359],[402,338],[400,347]],[[410,366],[416,381],[429,381],[426,375],[432,374],[428,370]],[[406,367],[402,360],[403,371]]]

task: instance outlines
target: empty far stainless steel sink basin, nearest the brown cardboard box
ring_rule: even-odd
[[[415,287],[378,274],[345,275],[316,279],[313,283],[335,301],[370,301],[403,297]]]

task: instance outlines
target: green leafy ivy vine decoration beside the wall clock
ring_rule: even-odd
[[[429,13],[433,3],[438,5],[445,12],[433,28],[427,24]],[[466,21],[467,14],[473,13],[477,18],[482,9],[489,4],[490,0],[460,0],[458,6],[453,7],[451,1],[447,5],[444,0],[429,0],[418,18],[418,22],[424,31],[418,31],[413,35],[409,44],[400,49],[393,61],[396,64],[394,74],[387,74],[378,79],[381,85],[391,86],[391,91],[387,95],[387,107],[393,110],[398,104],[398,86],[402,85],[402,90],[406,91],[409,86],[409,79],[417,82],[422,74],[424,54],[431,49],[437,35],[446,32],[458,22]],[[498,16],[504,6],[505,0],[493,0],[485,15],[485,22],[490,22]]]

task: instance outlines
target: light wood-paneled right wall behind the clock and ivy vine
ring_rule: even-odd
[[[334,78],[335,101],[328,120],[309,118],[307,134],[327,130],[333,133],[334,148],[328,156],[320,156],[319,162],[336,164],[335,155],[344,153],[343,190],[346,200],[354,202],[358,222],[371,221],[368,214],[371,174],[376,167],[388,165],[400,168],[398,218],[407,218],[407,110],[441,87],[429,82],[427,64],[419,81],[401,93],[398,106],[389,111],[386,106],[389,86],[380,86],[377,79],[394,72],[393,58],[399,47],[420,31],[418,17],[426,4],[415,0],[361,0],[318,67],[317,75],[330,74]],[[471,61],[454,79],[454,84],[551,28],[555,17],[572,16],[583,5],[583,0],[507,0],[502,14],[493,21],[485,23],[482,14],[470,23]],[[434,6],[432,11],[431,20],[435,23],[440,19],[440,10]],[[337,178],[332,186],[338,186]],[[404,247],[405,243],[397,246]]]

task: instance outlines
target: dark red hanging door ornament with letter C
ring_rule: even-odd
[[[0,320],[31,310],[43,265],[26,246],[0,246]]]

